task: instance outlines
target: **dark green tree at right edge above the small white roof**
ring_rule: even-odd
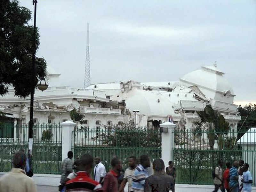
[[[237,122],[237,140],[239,140],[248,129],[256,127],[256,104],[249,103],[243,108],[239,105],[237,111],[241,116],[241,120]]]

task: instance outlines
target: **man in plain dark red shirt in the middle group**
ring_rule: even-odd
[[[114,157],[111,160],[112,169],[107,173],[104,178],[103,191],[104,192],[117,192],[118,191],[118,180],[117,176],[122,170],[121,161],[119,158]]]

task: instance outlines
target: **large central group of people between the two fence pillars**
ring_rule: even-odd
[[[147,155],[128,158],[128,168],[124,171],[121,161],[114,156],[111,160],[111,169],[106,172],[100,157],[85,154],[76,159],[72,166],[73,153],[68,152],[68,157],[61,163],[61,179],[59,191],[97,191],[97,192],[124,192],[128,182],[128,192],[174,192],[175,168],[173,162],[169,167],[164,167],[162,159],[153,163]],[[93,168],[93,162],[95,166]],[[74,169],[74,172],[72,172]],[[93,169],[93,179],[89,173]]]

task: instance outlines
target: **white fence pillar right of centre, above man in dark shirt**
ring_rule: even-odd
[[[174,146],[174,135],[173,131],[176,124],[171,122],[165,122],[160,124],[160,131],[162,133],[162,159],[164,161],[164,166],[168,167],[168,162],[173,161],[173,146]]]

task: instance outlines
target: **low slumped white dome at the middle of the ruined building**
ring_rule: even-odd
[[[140,110],[139,114],[148,116],[168,116],[174,114],[172,102],[161,93],[149,92],[133,88],[129,92],[120,93],[113,100],[125,100],[130,111]]]

